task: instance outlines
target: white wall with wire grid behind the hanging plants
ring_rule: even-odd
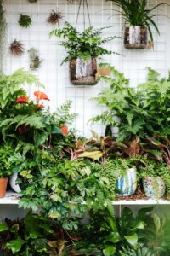
[[[60,66],[65,57],[65,49],[54,44],[57,38],[49,38],[49,32],[54,28],[46,22],[48,14],[52,9],[59,9],[64,19],[59,27],[64,25],[65,20],[75,25],[78,10],[78,0],[75,3],[68,4],[66,0],[39,0],[37,3],[29,3],[27,0],[4,0],[4,9],[8,22],[8,44],[6,72],[13,73],[16,69],[24,67],[29,70],[29,55],[27,50],[31,47],[39,49],[40,58],[43,60],[42,66],[36,71],[42,84],[45,84],[49,98],[51,111],[68,99],[72,101],[72,111],[78,113],[74,126],[81,131],[82,135],[89,137],[90,130],[98,131],[103,134],[105,129],[103,125],[90,125],[88,120],[102,111],[102,108],[96,106],[90,98],[96,96],[100,90],[109,84],[99,84],[90,87],[77,87],[70,83],[68,64]],[[169,3],[169,0],[164,0]],[[159,0],[150,0],[150,6],[161,3]],[[116,15],[112,10],[111,3],[105,3],[102,0],[88,0],[89,12],[92,26],[111,26],[106,30],[105,36],[122,36],[123,22],[120,15]],[[162,14],[170,17],[170,8],[161,7]],[[82,10],[81,10],[82,11]],[[20,14],[28,14],[32,17],[32,25],[29,28],[22,28],[18,24]],[[110,18],[111,17],[111,18]],[[110,19],[109,19],[110,18]],[[88,20],[88,19],[87,19]],[[79,17],[78,29],[82,29],[82,15]],[[107,44],[108,49],[119,52],[122,55],[107,55],[103,57],[102,62],[110,62],[121,72],[125,73],[127,78],[131,79],[133,86],[143,82],[146,79],[146,67],[152,67],[162,75],[167,75],[170,67],[170,20],[166,17],[156,17],[161,36],[154,31],[155,47],[154,50],[128,50],[123,49],[122,39],[115,39]],[[88,24],[87,24],[88,26]],[[8,45],[14,39],[20,40],[26,49],[26,53],[20,57],[10,55]],[[32,96],[34,89],[29,90]]]

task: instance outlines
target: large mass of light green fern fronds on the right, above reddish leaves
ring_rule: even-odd
[[[119,141],[137,135],[151,137],[159,134],[169,137],[169,79],[159,79],[159,74],[149,68],[147,82],[139,84],[135,90],[129,86],[128,79],[114,67],[109,64],[102,64],[102,67],[111,69],[111,78],[101,77],[110,83],[111,87],[102,90],[99,96],[94,98],[98,104],[104,105],[106,110],[91,120],[118,126]]]

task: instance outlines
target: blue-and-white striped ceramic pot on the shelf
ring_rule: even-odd
[[[133,195],[137,189],[137,175],[135,168],[129,168],[127,174],[116,180],[116,195]]]

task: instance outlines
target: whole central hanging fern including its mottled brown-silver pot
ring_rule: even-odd
[[[96,84],[96,58],[100,55],[115,54],[115,52],[103,47],[103,44],[116,38],[102,38],[101,34],[105,28],[94,29],[91,26],[83,32],[78,32],[70,23],[65,22],[65,26],[62,29],[55,29],[50,33],[51,36],[63,38],[59,45],[66,49],[67,57],[62,63],[70,61],[72,84]]]

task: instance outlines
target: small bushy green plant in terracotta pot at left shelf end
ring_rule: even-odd
[[[4,144],[0,146],[0,198],[5,196],[8,177],[12,173],[12,166],[8,160],[12,153],[13,149],[10,146]]]

